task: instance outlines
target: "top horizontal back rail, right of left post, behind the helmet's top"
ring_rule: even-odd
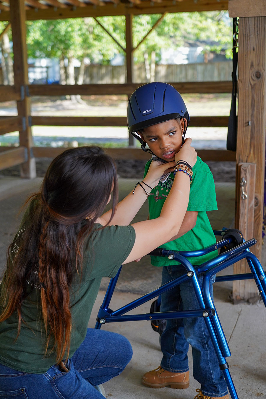
[[[232,82],[167,82],[179,93],[231,93]],[[92,84],[92,85],[30,85],[30,96],[80,95],[131,95],[145,83]]]

